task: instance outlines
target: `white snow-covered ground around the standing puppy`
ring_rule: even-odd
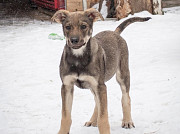
[[[122,36],[130,52],[132,117],[136,128],[121,128],[121,90],[112,78],[108,88],[111,134],[179,134],[180,7],[152,20],[134,23]],[[132,16],[129,16],[132,17]],[[123,19],[125,20],[125,19]],[[94,35],[114,30],[121,21],[99,21]],[[61,119],[59,61],[65,40],[61,25],[33,21],[0,26],[0,134],[56,134]],[[84,127],[93,112],[89,90],[76,88],[71,134],[98,134]]]

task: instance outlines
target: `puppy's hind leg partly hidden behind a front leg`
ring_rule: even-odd
[[[96,103],[95,95],[94,95],[94,100],[95,100],[95,103]],[[98,116],[98,108],[97,108],[97,104],[95,104],[93,115],[92,115],[91,119],[88,122],[85,123],[84,126],[86,126],[86,127],[90,127],[90,126],[97,127],[97,116]]]

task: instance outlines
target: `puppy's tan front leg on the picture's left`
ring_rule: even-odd
[[[73,101],[73,86],[62,85],[61,96],[62,96],[62,119],[61,128],[58,134],[69,134],[71,127],[71,109]]]

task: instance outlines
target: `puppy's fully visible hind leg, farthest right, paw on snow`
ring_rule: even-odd
[[[127,49],[127,47],[125,48]],[[121,55],[119,68],[116,72],[116,79],[121,86],[122,90],[122,109],[123,109],[123,128],[132,128],[134,123],[131,119],[131,100],[129,96],[130,89],[130,72],[128,65],[128,53]]]

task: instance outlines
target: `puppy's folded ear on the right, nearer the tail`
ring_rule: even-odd
[[[93,22],[97,21],[99,18],[104,20],[103,16],[100,12],[98,12],[94,8],[87,9],[84,14],[89,17],[89,19],[93,20]]]

